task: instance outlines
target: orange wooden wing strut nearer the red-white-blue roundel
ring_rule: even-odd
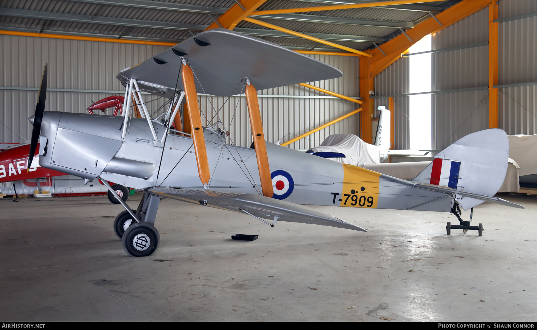
[[[267,156],[265,136],[263,134],[263,124],[261,122],[261,114],[259,112],[259,103],[257,102],[257,91],[256,88],[250,84],[250,80],[246,80],[246,103],[248,104],[248,113],[250,114],[253,146],[256,149],[257,167],[259,169],[259,178],[261,179],[261,189],[263,191],[263,196],[272,197],[274,189],[272,187],[269,157]]]

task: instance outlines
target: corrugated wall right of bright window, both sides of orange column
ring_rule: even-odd
[[[537,10],[535,1],[499,1],[499,18]],[[433,35],[433,49],[488,41],[488,8]],[[537,81],[535,17],[499,23],[498,85]],[[433,90],[488,86],[488,45],[434,53]],[[535,86],[500,88],[499,127],[535,134]],[[433,148],[488,128],[488,91],[433,94]]]

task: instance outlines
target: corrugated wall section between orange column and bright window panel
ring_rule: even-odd
[[[408,57],[398,59],[382,71],[374,79],[374,88],[376,95],[393,95],[409,93],[409,63]],[[378,118],[379,106],[388,107],[388,98],[375,100],[375,117]],[[394,97],[394,142],[395,149],[410,148],[410,98],[408,96]]]

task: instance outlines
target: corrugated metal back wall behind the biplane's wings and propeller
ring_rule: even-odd
[[[43,64],[48,62],[49,89],[123,91],[124,87],[115,79],[120,70],[167,49],[164,46],[9,35],[0,35],[0,40],[0,74],[3,87],[39,87]],[[344,73],[342,78],[311,84],[347,96],[358,96],[357,57],[311,56],[335,66]],[[23,142],[30,138],[31,126],[27,118],[34,113],[37,94],[37,91],[0,89],[0,141]],[[259,94],[326,96],[297,85],[268,89],[260,91]],[[92,101],[110,95],[113,94],[48,91],[46,110],[86,112],[86,107]],[[164,100],[158,99],[157,96],[146,94],[144,99],[146,102],[156,100],[148,104],[150,112],[163,107]],[[230,142],[250,146],[252,137],[244,97],[230,97],[226,102],[227,97],[199,96],[199,100],[202,120],[208,118],[207,122],[212,123],[222,121],[224,127],[230,130]],[[213,110],[211,103],[214,109],[221,110]],[[340,99],[294,97],[259,97],[259,106],[266,137],[270,142],[289,140],[357,108],[356,103]],[[111,114],[111,110],[107,112]],[[330,134],[358,134],[358,127],[358,116],[351,116],[290,146],[307,149],[319,145]]]

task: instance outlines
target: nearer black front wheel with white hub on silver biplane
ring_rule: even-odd
[[[133,257],[147,257],[158,250],[161,236],[147,222],[138,222],[127,228],[121,243],[123,250]]]

